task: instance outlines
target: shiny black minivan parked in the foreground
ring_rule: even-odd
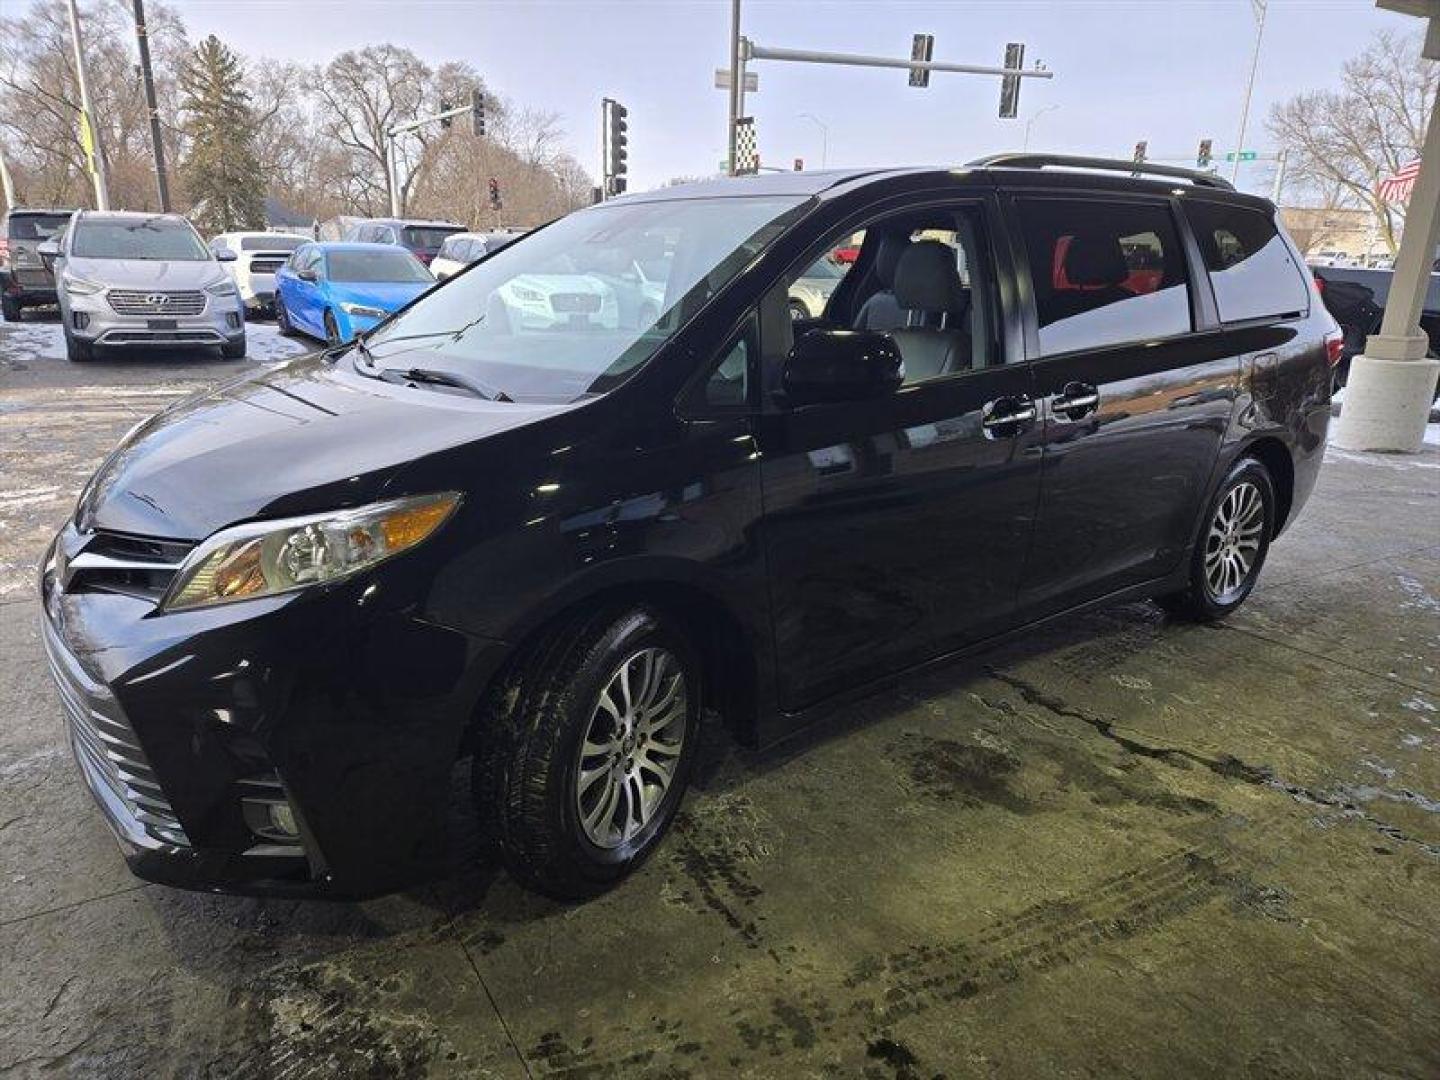
[[[140,425],[40,583],[132,870],[393,890],[444,864],[471,760],[517,877],[582,897],[657,845],[703,723],[770,743],[1087,605],[1234,611],[1341,340],[1274,206],[1135,168],[626,196]]]

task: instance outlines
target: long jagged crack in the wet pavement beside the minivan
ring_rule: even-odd
[[[1215,776],[1227,780],[1240,780],[1243,783],[1250,783],[1257,788],[1267,788],[1270,791],[1282,792],[1289,795],[1296,802],[1309,804],[1315,806],[1325,806],[1326,809],[1336,811],[1344,818],[1352,818],[1355,821],[1362,821],[1369,825],[1377,832],[1400,842],[1408,844],[1411,847],[1420,848],[1423,852],[1433,858],[1440,858],[1440,845],[1430,844],[1418,837],[1411,837],[1403,829],[1382,818],[1377,818],[1369,814],[1361,804],[1372,798],[1384,798],[1392,802],[1404,802],[1410,805],[1417,805],[1421,809],[1436,814],[1440,812],[1440,804],[1428,799],[1423,795],[1417,795],[1408,789],[1400,792],[1392,792],[1384,788],[1365,788],[1356,791],[1348,791],[1341,788],[1335,792],[1318,791],[1313,788],[1306,788],[1300,783],[1293,783],[1274,773],[1274,770],[1267,765],[1250,765],[1231,755],[1221,755],[1218,757],[1207,757],[1202,753],[1194,750],[1187,750],[1176,746],[1151,746],[1149,743],[1140,742],[1132,736],[1122,734],[1115,729],[1115,721],[1103,716],[1096,716],[1089,710],[1079,708],[1068,704],[1064,698],[1050,694],[1034,683],[1030,683],[1018,675],[1011,675],[996,668],[986,668],[991,678],[1004,683],[1005,685],[1015,690],[1027,704],[1038,706],[1054,716],[1067,717],[1071,720],[1079,720],[1083,724],[1089,724],[1103,737],[1120,746],[1123,750],[1139,755],[1140,757],[1149,757],[1152,760],[1164,762],[1165,765],[1174,768],[1189,768],[1189,765],[1198,765],[1208,769]],[[989,704],[989,703],[986,703]]]

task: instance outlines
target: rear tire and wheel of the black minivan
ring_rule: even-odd
[[[1215,622],[1254,590],[1276,527],[1274,482],[1254,458],[1240,458],[1205,507],[1189,562],[1189,583],[1158,598],[1162,608],[1197,622]]]

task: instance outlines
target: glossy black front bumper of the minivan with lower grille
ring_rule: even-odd
[[[81,776],[132,873],[360,899],[446,865],[451,770],[504,645],[418,618],[399,560],[330,590],[158,615],[153,598],[82,583],[69,567],[92,544],[71,524],[48,552],[42,635]],[[256,831],[256,791],[288,805],[298,837]]]

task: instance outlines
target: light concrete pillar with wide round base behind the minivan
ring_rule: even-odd
[[[1381,0],[1382,7],[1407,10]],[[1440,16],[1436,0],[1421,0],[1414,13],[1430,14],[1426,55],[1440,55]],[[1410,194],[1405,232],[1395,255],[1385,318],[1365,341],[1365,354],[1351,360],[1345,405],[1331,429],[1331,442],[1345,449],[1414,454],[1420,449],[1430,402],[1440,377],[1440,360],[1426,357],[1430,341],[1420,328],[1420,311],[1430,289],[1430,264],[1440,243],[1440,108],[1431,105],[1420,176]]]

